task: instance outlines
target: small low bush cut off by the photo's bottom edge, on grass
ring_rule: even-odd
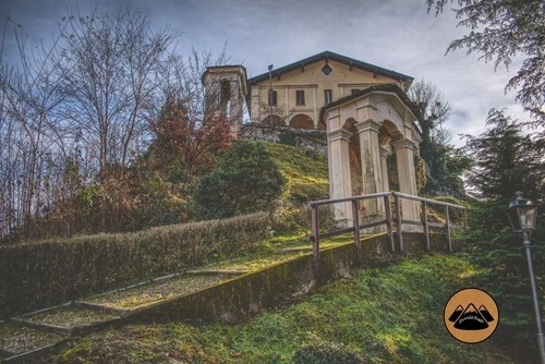
[[[292,364],[363,364],[363,357],[342,343],[317,342],[299,349]]]

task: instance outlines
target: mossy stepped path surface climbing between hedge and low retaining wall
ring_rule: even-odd
[[[308,255],[311,247],[286,248],[250,262],[223,262],[159,277],[114,291],[0,321],[0,362],[36,363],[70,338],[131,321],[134,314],[198,294],[243,275]]]

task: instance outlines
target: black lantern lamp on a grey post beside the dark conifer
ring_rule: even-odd
[[[535,230],[537,218],[537,207],[530,198],[524,198],[522,192],[514,193],[514,199],[509,203],[507,216],[511,222],[512,230],[522,234],[524,250],[526,252],[528,270],[530,274],[530,283],[532,286],[532,295],[534,301],[535,320],[537,324],[537,340],[542,364],[545,364],[545,342],[542,328],[542,315],[537,295],[537,286],[535,283],[534,268],[532,265],[532,254],[530,252],[530,235]]]

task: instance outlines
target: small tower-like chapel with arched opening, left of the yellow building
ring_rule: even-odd
[[[225,117],[231,132],[238,133],[244,121],[246,69],[242,65],[209,66],[202,77],[207,113]]]

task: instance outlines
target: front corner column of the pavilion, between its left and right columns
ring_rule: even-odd
[[[362,158],[363,194],[383,192],[383,171],[380,165],[380,144],[378,130],[380,124],[372,119],[356,123],[360,136],[360,150]],[[384,203],[380,198],[365,199],[365,216],[384,214]]]

